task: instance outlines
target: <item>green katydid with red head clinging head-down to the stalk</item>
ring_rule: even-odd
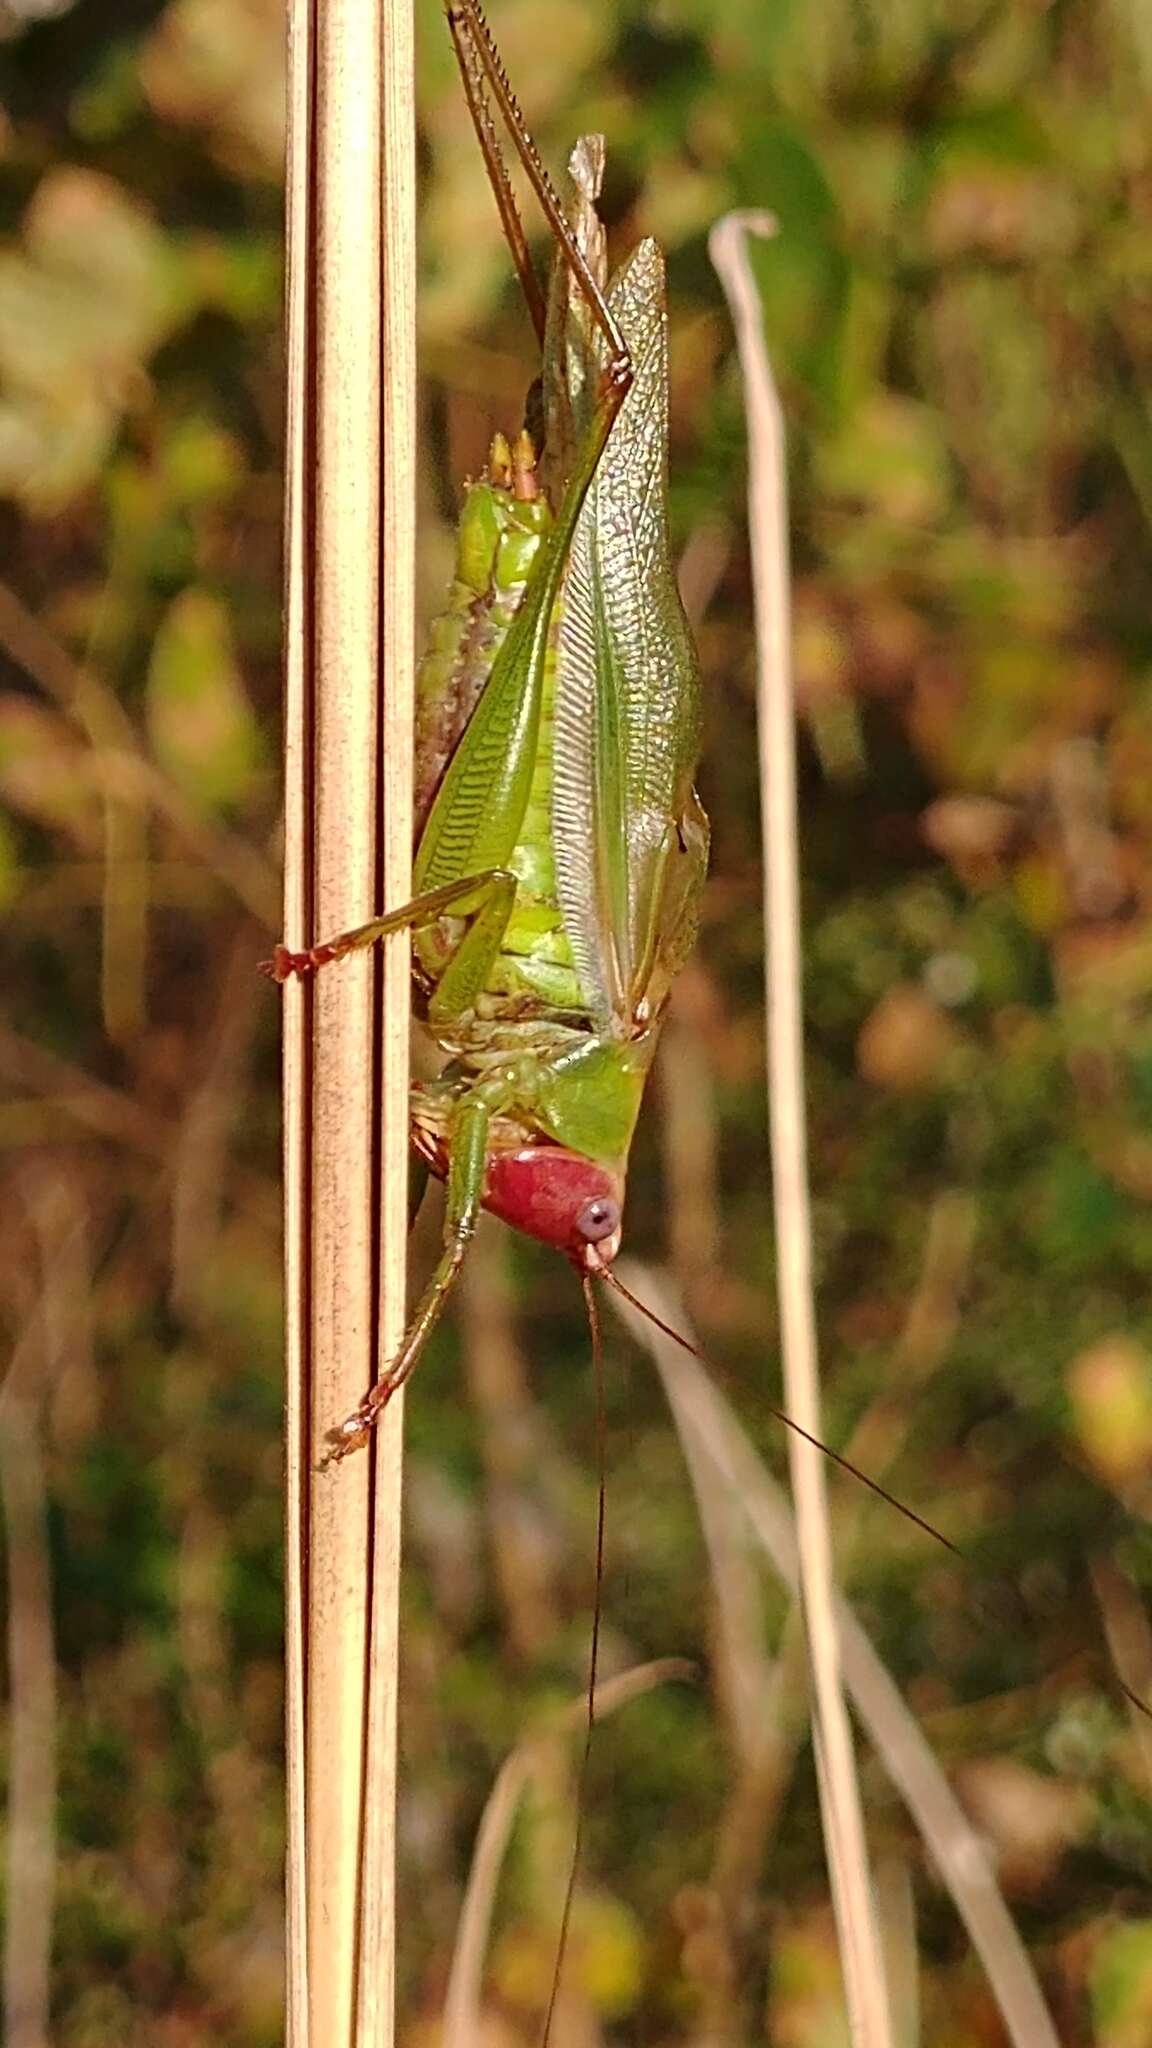
[[[357,1448],[416,1366],[482,1208],[582,1274],[621,1241],[627,1153],[697,924],[699,668],[666,528],[664,262],[607,276],[603,139],[553,193],[476,0],[449,0],[471,119],[541,346],[543,440],[496,436],[418,672],[414,897],[303,952],[285,981],[412,932],[416,1014],[449,1055],[412,1090],[447,1182],[443,1249],[389,1370],[334,1432]],[[547,293],[496,143],[496,104],[556,238]]]

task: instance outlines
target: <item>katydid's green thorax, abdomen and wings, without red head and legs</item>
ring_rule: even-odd
[[[605,272],[594,213],[601,170],[603,143],[584,137],[572,156],[570,223],[596,283]],[[416,936],[428,1022],[457,1061],[449,1087],[459,1098],[461,1069],[504,1071],[508,1098],[492,1120],[492,1147],[570,1147],[613,1169],[621,1192],[656,1026],[693,942],[707,862],[707,821],[691,780],[699,676],[664,524],[662,272],[660,250],[644,242],[605,293],[633,383],[560,563],[531,686],[504,649],[533,578],[543,582],[556,528],[527,436],[512,463],[496,442],[490,475],[467,494],[453,604],[433,629],[418,684],[416,811],[426,821],[416,887],[443,885],[453,864],[517,877],[500,946],[467,1012],[445,1014],[443,1004],[459,922],[447,918]],[[551,473],[576,461],[603,356],[558,258],[543,385],[558,442],[547,449]],[[486,664],[474,705],[469,670]],[[480,707],[510,733],[498,795],[488,748],[455,752],[465,735],[474,739]],[[416,1094],[418,1143],[439,1169],[445,1108],[443,1092]],[[510,1221],[531,1229],[531,1204]]]

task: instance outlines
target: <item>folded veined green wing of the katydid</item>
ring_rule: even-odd
[[[572,154],[574,229],[603,274],[603,143]],[[668,555],[664,258],[642,242],[607,289],[633,385],[580,514],[560,612],[556,872],[576,969],[603,1028],[656,1012],[693,942],[707,821],[693,791],[699,668]],[[578,436],[603,344],[568,287],[551,295],[549,442]]]

